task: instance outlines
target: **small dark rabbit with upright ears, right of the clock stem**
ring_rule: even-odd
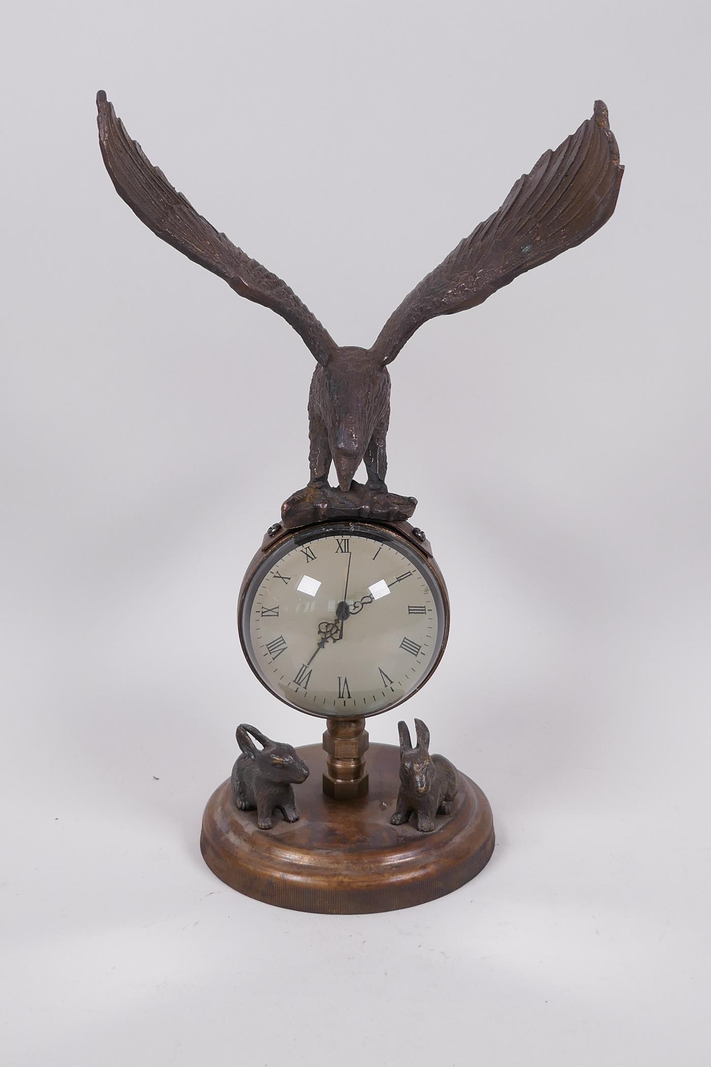
[[[443,755],[430,755],[430,731],[421,719],[415,719],[417,745],[414,747],[405,722],[398,723],[400,733],[400,790],[398,806],[390,822],[394,826],[417,815],[417,828],[430,833],[435,828],[435,815],[449,815],[457,791],[456,767]]]

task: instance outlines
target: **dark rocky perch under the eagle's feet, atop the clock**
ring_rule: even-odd
[[[402,523],[410,517],[417,499],[368,489],[357,481],[343,492],[330,485],[307,485],[293,493],[281,505],[285,529],[309,526],[332,519],[372,519],[384,523]]]

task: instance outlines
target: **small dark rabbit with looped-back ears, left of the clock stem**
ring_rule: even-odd
[[[256,737],[261,749],[252,737]],[[232,800],[240,811],[257,809],[257,826],[272,829],[272,815],[279,810],[287,823],[298,818],[293,783],[305,782],[308,767],[291,745],[270,740],[254,727],[242,723],[237,728],[237,742],[242,749],[232,767]]]

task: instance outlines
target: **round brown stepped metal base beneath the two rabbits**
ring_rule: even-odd
[[[491,809],[460,771],[452,813],[438,815],[432,833],[420,833],[411,821],[390,823],[400,784],[395,746],[371,745],[370,790],[355,800],[334,800],[323,793],[325,753],[320,745],[300,748],[298,754],[311,774],[294,791],[297,823],[285,823],[275,812],[273,829],[257,829],[257,813],[238,811],[232,803],[229,781],[215,790],[205,809],[205,862],[240,893],[322,914],[394,911],[451,893],[488,862]]]

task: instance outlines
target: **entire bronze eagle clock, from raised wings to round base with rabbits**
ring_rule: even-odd
[[[239,892],[304,911],[386,911],[450,893],[491,856],[486,797],[462,768],[431,753],[422,719],[415,719],[414,738],[399,721],[398,745],[371,746],[366,730],[371,716],[420,694],[450,627],[442,574],[424,532],[409,522],[417,500],[386,484],[388,368],[429,319],[483,303],[610,219],[623,166],[607,108],[596,101],[591,118],[544,153],[501,207],[405,297],[370,348],[337,345],[286,283],[169,185],[103,92],[97,108],[103,162],[139,219],[240,296],[280,315],[316,361],[309,480],[282,503],[280,521],[247,567],[238,630],[259,682],[323,719],[325,731],[321,746],[295,749],[247,722],[237,727],[231,775],[205,809],[203,856]],[[361,464],[366,480],[358,482]],[[241,703],[248,702],[245,692]],[[418,710],[425,706],[419,696]],[[460,759],[467,762],[466,753]]]

